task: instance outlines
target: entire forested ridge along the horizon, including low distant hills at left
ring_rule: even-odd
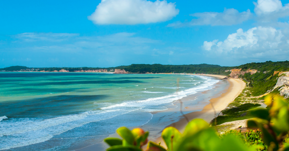
[[[89,70],[99,70],[99,72],[114,72],[114,69],[123,69],[129,73],[204,73],[204,74],[219,74],[229,75],[231,69],[241,69],[242,71],[248,69],[256,69],[258,72],[268,71],[288,71],[289,62],[280,61],[272,62],[266,61],[261,63],[248,63],[240,66],[219,66],[212,64],[190,64],[190,65],[162,65],[162,64],[131,64],[129,66],[117,66],[110,68],[29,68],[26,66],[11,66],[7,68],[0,68],[0,71],[47,71],[57,72],[60,70],[66,70],[69,72],[86,72]]]

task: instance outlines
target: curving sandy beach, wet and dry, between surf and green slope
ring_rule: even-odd
[[[225,76],[220,75],[212,75],[212,74],[193,74],[193,75],[202,75],[202,76],[210,76],[216,77],[217,79],[223,79]],[[220,86],[220,83],[228,82],[229,85],[224,90],[215,92],[216,89]],[[220,81],[220,83],[215,85],[215,88],[198,92],[194,95],[189,95],[181,99],[183,112],[185,116],[192,120],[194,118],[202,118],[208,123],[212,121],[214,117],[216,117],[223,109],[227,107],[229,103],[231,103],[243,90],[245,87],[245,83],[240,79],[226,79]],[[209,98],[202,98],[204,95],[200,93],[208,93],[212,94]],[[194,101],[198,99],[198,103]],[[149,140],[154,141],[156,143],[161,142],[162,146],[165,146],[161,136],[162,130],[166,127],[173,126],[176,127],[180,132],[183,132],[187,121],[180,114],[180,100],[174,102],[173,106],[168,106],[168,110],[151,112],[153,114],[153,118],[146,124],[136,127],[141,127],[145,131],[149,131]],[[214,109],[213,109],[214,106]],[[197,110],[197,111],[196,111]],[[129,127],[129,129],[134,129],[136,127]],[[120,136],[117,133],[109,135],[109,137],[118,137]],[[109,146],[105,142],[100,142],[91,146],[87,146],[85,148],[78,149],[77,151],[104,151]],[[144,146],[145,148],[145,146]]]

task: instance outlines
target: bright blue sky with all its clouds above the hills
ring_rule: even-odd
[[[0,0],[0,68],[289,60],[289,0]]]

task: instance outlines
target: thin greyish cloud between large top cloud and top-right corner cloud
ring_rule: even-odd
[[[168,26],[195,26],[195,25],[234,25],[240,24],[252,17],[250,9],[244,12],[239,12],[234,8],[225,9],[224,12],[203,12],[203,13],[194,13],[190,16],[197,17],[197,19],[192,19],[188,23],[175,22],[168,24]]]

